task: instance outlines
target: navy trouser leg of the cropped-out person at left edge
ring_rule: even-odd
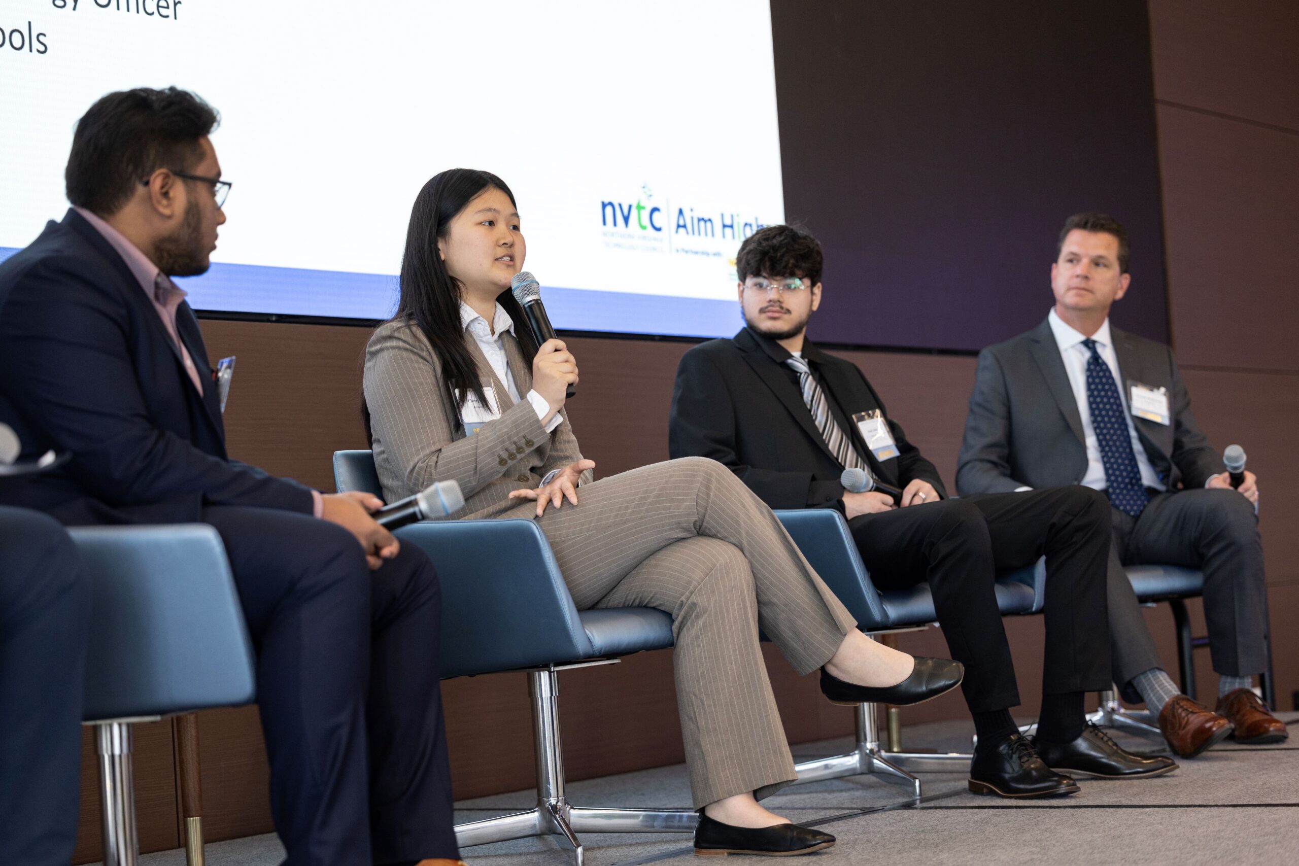
[[[71,861],[88,618],[64,527],[0,506],[0,863]]]

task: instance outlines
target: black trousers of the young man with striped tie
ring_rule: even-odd
[[[1109,502],[1085,487],[964,499],[863,514],[848,522],[881,589],[927,580],[952,658],[965,665],[970,711],[1020,702],[1011,648],[996,606],[998,573],[1047,558],[1046,695],[1109,686],[1105,573]]]

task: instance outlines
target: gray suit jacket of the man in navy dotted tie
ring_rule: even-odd
[[[1170,423],[1133,418],[1151,465],[1169,489],[1203,487],[1225,467],[1191,414],[1173,351],[1113,325],[1109,331],[1120,379],[1168,390]],[[956,489],[1059,487],[1077,484],[1086,471],[1082,418],[1050,322],[979,352]]]

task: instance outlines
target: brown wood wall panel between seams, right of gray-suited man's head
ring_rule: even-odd
[[[1299,132],[1168,105],[1157,118],[1178,360],[1299,370]]]

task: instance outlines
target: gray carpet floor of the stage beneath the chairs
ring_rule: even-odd
[[[979,797],[964,774],[926,773],[917,802],[870,776],[786,788],[764,801],[773,811],[838,837],[805,861],[835,863],[1294,863],[1299,862],[1299,713],[1285,713],[1295,731],[1278,747],[1226,740],[1172,774],[1137,782],[1079,779],[1082,791],[1046,801]],[[969,750],[972,727],[942,722],[904,730],[908,749]],[[1159,752],[1163,741],[1116,734],[1134,750]],[[837,754],[847,740],[808,743],[795,758]],[[570,783],[574,805],[688,808],[685,766],[660,767]],[[527,809],[533,793],[466,800],[456,821]],[[685,834],[585,835],[588,866],[692,862]],[[573,858],[551,839],[479,845],[462,852],[472,866],[564,866]],[[274,866],[283,849],[274,836],[207,847],[210,866]],[[144,866],[183,866],[184,852],[140,858]],[[698,861],[703,862],[703,861]],[[753,861],[761,862],[761,861]]]

